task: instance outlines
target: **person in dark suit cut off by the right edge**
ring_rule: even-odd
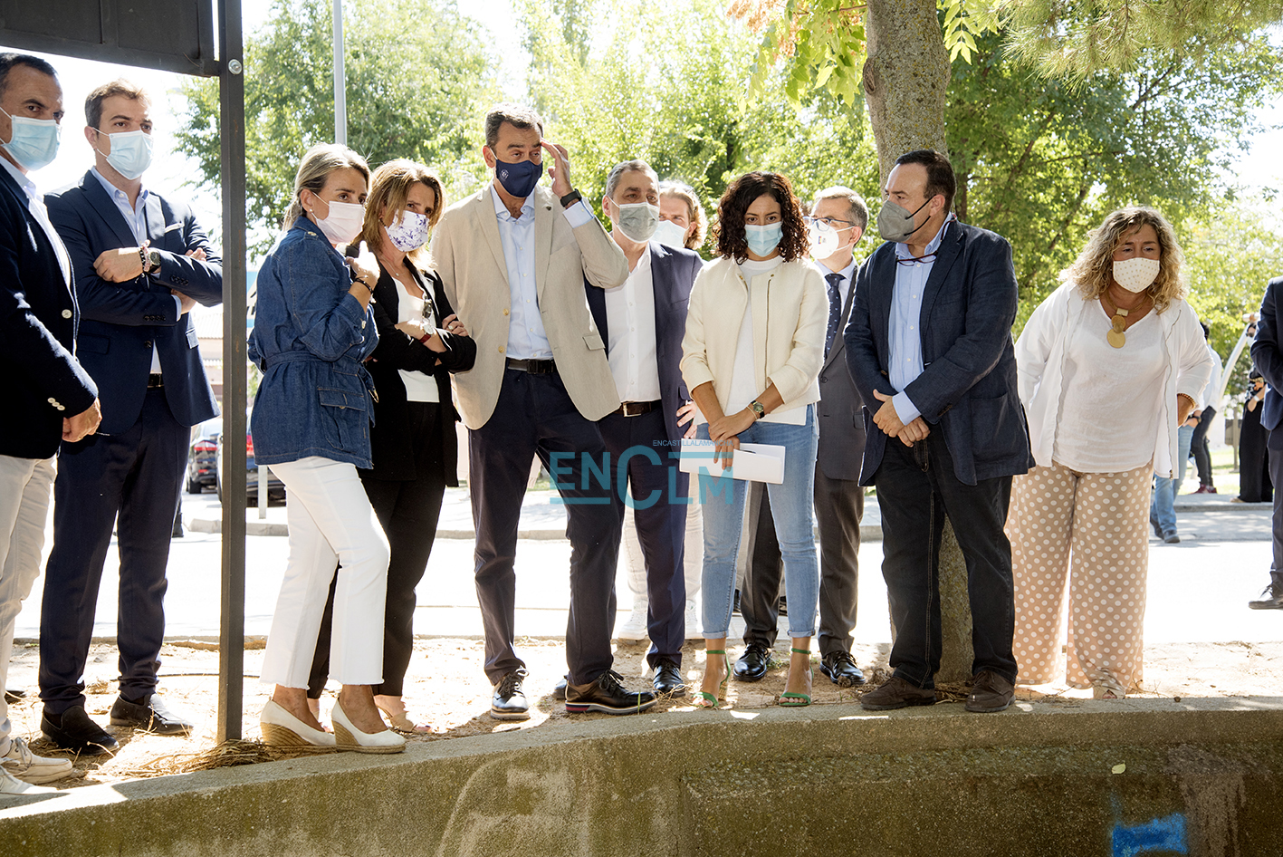
[[[1261,427],[1269,435],[1266,449],[1270,457],[1270,481],[1274,484],[1274,562],[1270,563],[1270,582],[1261,597],[1247,602],[1252,609],[1283,609],[1283,344],[1279,343],[1279,290],[1283,277],[1274,277],[1265,286],[1261,301],[1261,319],[1256,323],[1252,340],[1252,364],[1265,376],[1269,385],[1261,402]]]

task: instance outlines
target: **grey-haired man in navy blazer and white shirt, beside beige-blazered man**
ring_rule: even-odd
[[[654,670],[656,692],[681,697],[689,484],[668,453],[681,443],[677,409],[690,398],[679,364],[690,286],[703,260],[690,250],[650,241],[658,205],[659,182],[645,162],[627,160],[611,169],[602,207],[611,218],[611,237],[627,257],[629,278],[604,290],[585,282],[584,290],[622,403],[597,425],[615,466],[615,511],[622,525],[624,505],[633,504],[645,558],[647,662]],[[626,482],[631,484],[627,499]]]

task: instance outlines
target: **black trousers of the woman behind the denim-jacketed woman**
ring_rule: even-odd
[[[411,436],[414,437],[414,473],[408,480],[375,479],[371,471],[358,471],[366,496],[387,536],[387,603],[384,611],[384,683],[373,686],[378,695],[400,697],[414,652],[414,588],[423,579],[427,559],[436,540],[445,495],[445,464],[441,437],[436,430],[435,402],[408,402]],[[330,677],[330,629],[334,621],[334,589],[321,617],[317,650],[312,656],[308,695],[321,697]]]

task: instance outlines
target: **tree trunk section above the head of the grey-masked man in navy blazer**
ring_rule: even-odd
[[[949,55],[935,0],[870,0],[865,38],[865,100],[885,182],[896,158],[906,151],[948,154],[944,94]]]

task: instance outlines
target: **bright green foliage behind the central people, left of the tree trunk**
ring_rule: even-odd
[[[570,149],[585,199],[599,207],[607,172],[631,158],[688,182],[709,214],[726,183],[749,169],[789,176],[802,198],[835,183],[876,190],[862,112],[828,99],[794,103],[779,74],[745,101],[757,40],[716,0],[588,3],[580,14],[608,8],[615,22],[595,50],[567,40],[557,0],[527,0],[523,14],[531,103],[548,136]]]

